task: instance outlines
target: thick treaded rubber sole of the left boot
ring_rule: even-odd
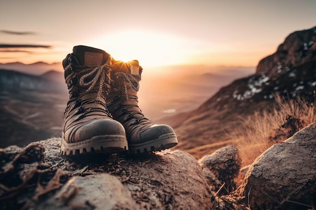
[[[61,153],[63,156],[84,153],[114,154],[128,150],[126,137],[123,135],[99,135],[78,143],[68,144],[62,139]]]

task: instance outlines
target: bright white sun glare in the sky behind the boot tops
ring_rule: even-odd
[[[194,40],[141,30],[104,34],[89,44],[106,50],[116,60],[137,59],[146,66],[184,63],[189,49],[196,47]]]

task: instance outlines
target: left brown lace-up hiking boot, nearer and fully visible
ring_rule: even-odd
[[[106,106],[111,60],[107,52],[87,46],[75,46],[63,60],[69,101],[62,155],[112,154],[128,149],[123,125],[112,118]]]

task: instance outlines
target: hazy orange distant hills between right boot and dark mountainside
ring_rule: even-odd
[[[143,113],[153,122],[173,112],[195,109],[224,85],[255,71],[255,67],[244,66],[180,65],[161,68],[161,74],[152,68],[144,68],[138,93]]]

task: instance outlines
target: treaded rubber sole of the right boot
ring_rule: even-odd
[[[128,147],[130,154],[143,154],[167,150],[175,147],[177,144],[177,135],[175,133],[167,133],[151,141],[139,144],[129,144]]]

